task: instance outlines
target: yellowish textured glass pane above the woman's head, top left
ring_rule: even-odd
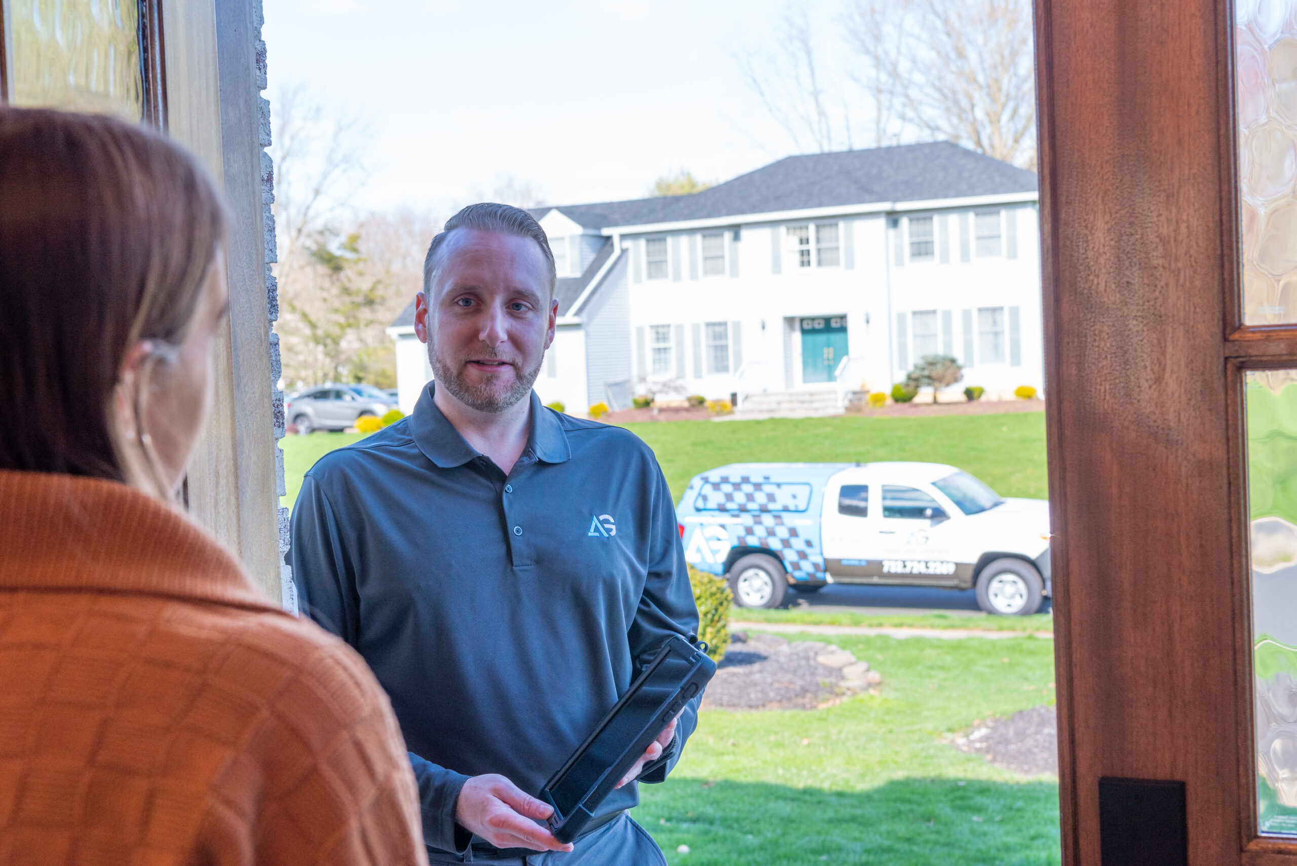
[[[13,101],[144,115],[135,0],[9,0]]]

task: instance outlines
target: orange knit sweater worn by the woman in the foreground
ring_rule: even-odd
[[[364,662],[126,485],[0,471],[0,863],[425,863]]]

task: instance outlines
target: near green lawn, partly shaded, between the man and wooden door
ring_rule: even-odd
[[[833,642],[883,674],[882,694],[704,712],[671,778],[642,786],[634,810],[671,863],[1060,862],[1057,780],[943,742],[977,718],[1052,704],[1052,640]]]

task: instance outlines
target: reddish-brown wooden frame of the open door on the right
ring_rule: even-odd
[[[1297,863],[1255,814],[1230,0],[1035,0],[1065,863],[1099,779],[1185,783],[1191,863]]]

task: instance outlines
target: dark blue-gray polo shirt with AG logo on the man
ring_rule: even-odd
[[[671,493],[634,434],[541,406],[506,477],[432,401],[327,454],[293,508],[302,611],[392,697],[428,845],[463,852],[455,799],[499,773],[536,795],[668,634],[698,629]],[[661,782],[696,722],[643,782]],[[636,783],[607,814],[639,801]],[[476,848],[476,845],[475,845]]]

